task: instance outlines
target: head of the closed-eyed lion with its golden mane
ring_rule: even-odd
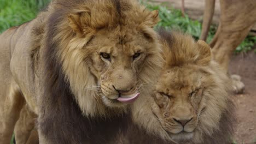
[[[229,139],[232,122],[223,131],[220,125],[234,118],[226,114],[233,112],[230,81],[212,60],[210,46],[181,33],[160,34],[166,64],[154,91],[153,111],[162,127],[176,141],[203,143],[223,132]],[[223,115],[230,117],[223,122]]]

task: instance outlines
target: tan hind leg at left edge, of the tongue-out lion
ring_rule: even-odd
[[[0,143],[9,144],[16,121],[19,118],[20,111],[24,105],[24,98],[20,92],[19,86],[12,81],[9,93],[0,111]]]

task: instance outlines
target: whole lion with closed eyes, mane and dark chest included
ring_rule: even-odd
[[[133,124],[117,143],[228,143],[236,122],[231,81],[210,46],[181,32],[159,35],[165,62],[152,97],[131,111]]]

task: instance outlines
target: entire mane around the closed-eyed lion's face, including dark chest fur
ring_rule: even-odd
[[[177,143],[226,143],[227,140],[232,139],[236,123],[235,105],[232,101],[230,91],[230,80],[223,70],[219,68],[219,65],[211,59],[211,55],[208,57],[207,51],[203,53],[203,50],[194,49],[193,45],[195,45],[195,41],[190,35],[184,35],[179,32],[171,33],[164,29],[159,31],[159,35],[159,40],[161,41],[164,51],[162,56],[166,60],[165,67],[163,67],[162,70],[170,67],[179,67],[180,65],[188,63],[206,63],[207,65],[205,65],[203,69],[205,69],[206,73],[213,76],[213,79],[210,79],[211,82],[207,82],[208,84],[210,83],[210,85],[204,88],[204,98],[201,104],[204,105],[205,108],[201,111],[199,123],[197,124],[193,138]],[[201,54],[199,54],[199,51],[201,51]],[[207,61],[210,61],[210,63],[207,63]],[[152,101],[149,101],[148,104],[153,105]],[[144,109],[141,111],[150,111],[150,107],[147,106],[143,106],[141,109]],[[151,119],[154,119],[154,117],[145,119],[148,119],[147,123],[150,124]],[[158,127],[157,122],[151,123],[151,125],[153,127],[152,129],[162,131],[162,128]],[[150,125],[148,125],[148,127],[150,127]],[[125,137],[126,141],[124,143],[175,143],[159,139],[159,137],[156,136],[157,134],[152,135],[148,132],[150,131],[139,125],[131,125],[125,136],[120,139],[124,139]]]

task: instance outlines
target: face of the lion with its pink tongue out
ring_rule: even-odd
[[[126,32],[102,30],[89,41],[90,70],[104,104],[124,106],[139,97],[139,75],[157,49],[154,43],[149,35],[132,28]]]

